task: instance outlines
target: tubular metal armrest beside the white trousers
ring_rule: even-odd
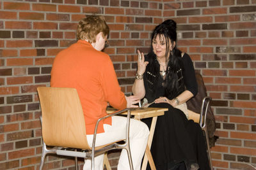
[[[129,126],[130,126],[130,118],[131,118],[131,108],[125,108],[124,110],[115,111],[114,113],[111,113],[111,114],[109,114],[109,115],[106,115],[106,116],[104,116],[104,117],[101,117],[101,118],[99,118],[99,119],[97,120],[97,123],[96,123],[96,125],[95,125],[95,129],[94,129],[94,133],[93,133],[93,142],[92,142],[92,150],[93,150],[93,152],[94,152],[94,150],[95,150],[95,141],[96,141],[97,129],[98,129],[99,122],[100,122],[101,120],[104,120],[104,119],[108,118],[108,117],[113,117],[113,116],[118,115],[118,114],[120,114],[120,113],[123,113],[123,112],[125,112],[125,111],[127,111],[126,139],[129,138]]]

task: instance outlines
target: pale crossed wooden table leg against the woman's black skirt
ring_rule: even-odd
[[[151,167],[152,170],[156,169],[156,166],[154,164],[154,160],[153,160],[151,152],[150,152],[150,148],[151,148],[151,144],[152,144],[152,140],[153,140],[153,136],[154,136],[154,132],[155,132],[155,128],[156,128],[156,120],[157,120],[157,117],[152,118],[152,123],[151,123],[149,136],[148,136],[148,145],[147,145],[147,148],[146,148],[146,151],[145,151],[146,154],[144,155],[141,170],[145,170],[147,168],[147,162],[149,162],[150,167]]]

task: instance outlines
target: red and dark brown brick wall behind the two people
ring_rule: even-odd
[[[211,150],[214,168],[256,164],[256,0],[1,0],[0,9],[0,169],[38,169],[36,87],[49,86],[54,56],[76,41],[77,21],[92,13],[106,17],[111,32],[104,52],[127,94],[136,49],[147,52],[150,31],[166,18],[176,20],[178,45],[213,98],[220,136]],[[109,156],[116,167],[118,153]],[[72,159],[51,155],[45,169],[73,165]]]

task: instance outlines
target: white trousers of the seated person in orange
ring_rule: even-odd
[[[104,133],[97,134],[95,146],[105,145],[119,139],[125,139],[126,117],[112,117],[112,125],[104,124]],[[148,141],[148,127],[143,122],[131,119],[130,121],[130,149],[134,170],[140,170],[141,160],[145,153]],[[92,146],[93,135],[87,135],[88,144]],[[103,169],[104,154],[94,158],[95,170]],[[91,169],[91,159],[84,159],[83,170]],[[118,170],[130,169],[129,159],[125,149],[122,150],[118,162]]]

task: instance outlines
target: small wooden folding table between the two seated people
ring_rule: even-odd
[[[114,111],[116,111],[116,110],[113,108],[107,109],[107,113],[113,113]],[[152,139],[154,136],[157,117],[164,115],[164,111],[168,111],[168,108],[131,108],[131,115],[133,115],[134,119],[136,119],[136,120],[141,120],[142,118],[152,117],[152,123],[150,126],[150,131],[149,131],[149,136],[148,136],[148,145],[146,147],[141,170],[144,170],[147,168],[147,162],[149,162],[149,165],[152,170],[156,169],[154,160],[153,160],[151,152],[150,152],[150,147],[151,147]],[[127,113],[123,113],[123,114],[127,114]],[[104,157],[104,161],[106,162],[106,166],[107,166],[107,164],[109,164],[109,162],[108,162],[108,157],[106,157],[106,155]],[[108,169],[108,167],[107,167],[107,169]]]

